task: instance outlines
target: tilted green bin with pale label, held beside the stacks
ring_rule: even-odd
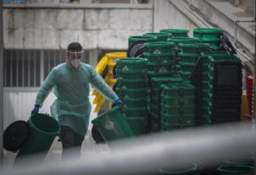
[[[120,106],[115,106],[91,121],[106,142],[134,136]]]

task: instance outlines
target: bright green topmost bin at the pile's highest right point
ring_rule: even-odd
[[[218,28],[196,28],[193,30],[193,37],[198,39],[218,39],[223,33],[221,29]]]

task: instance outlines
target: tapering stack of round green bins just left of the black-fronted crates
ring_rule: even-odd
[[[177,44],[179,49],[178,58],[181,68],[180,75],[184,80],[188,80],[191,72],[197,64],[197,59],[200,53],[207,51],[209,44],[207,43],[179,43]]]

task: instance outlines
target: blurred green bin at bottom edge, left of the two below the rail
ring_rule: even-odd
[[[177,166],[170,167],[170,166],[163,166],[160,167],[160,174],[167,175],[197,175],[200,174],[199,170],[197,169],[197,165],[193,162],[186,162],[182,161],[179,162]]]

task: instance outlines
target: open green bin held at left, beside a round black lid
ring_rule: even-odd
[[[32,115],[27,123],[31,128],[31,131],[26,143],[19,150],[15,163],[24,155],[33,155],[38,153],[42,153],[39,158],[40,160],[38,159],[38,161],[43,162],[44,157],[47,155],[47,152],[55,139],[55,136],[60,135],[61,126],[53,117],[45,114]]]

